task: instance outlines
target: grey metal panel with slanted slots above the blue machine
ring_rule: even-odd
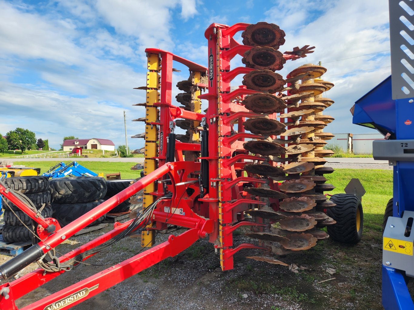
[[[413,98],[414,1],[389,0],[389,7],[392,99]]]

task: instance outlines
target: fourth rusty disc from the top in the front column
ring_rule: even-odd
[[[286,107],[282,98],[276,97],[272,94],[256,93],[248,95],[242,101],[242,104],[248,110],[255,113],[276,113],[281,112]]]

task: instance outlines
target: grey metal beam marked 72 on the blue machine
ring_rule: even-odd
[[[376,160],[414,161],[414,140],[375,140],[372,145]]]

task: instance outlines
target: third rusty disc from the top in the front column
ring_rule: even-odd
[[[243,85],[248,89],[267,93],[276,93],[286,83],[280,74],[270,70],[253,70],[243,76]]]

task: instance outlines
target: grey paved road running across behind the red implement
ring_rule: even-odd
[[[36,161],[64,161],[67,162],[70,158],[18,158],[11,159],[14,162],[36,162]],[[144,162],[144,158],[128,157],[128,158],[76,158],[78,162],[91,161],[91,162]],[[392,170],[392,166],[388,165],[386,160],[374,160],[373,158],[326,158],[329,167],[341,169],[382,169]]]

